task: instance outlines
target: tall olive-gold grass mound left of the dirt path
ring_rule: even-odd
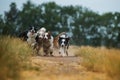
[[[0,80],[19,80],[32,49],[20,39],[0,36]]]

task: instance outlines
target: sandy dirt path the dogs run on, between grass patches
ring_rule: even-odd
[[[109,80],[104,73],[88,71],[81,66],[81,57],[75,57],[71,47],[69,56],[32,57],[34,70],[23,71],[22,80]],[[73,51],[74,50],[74,51]]]

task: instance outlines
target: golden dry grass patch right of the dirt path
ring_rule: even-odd
[[[83,57],[82,65],[88,70],[107,73],[112,80],[120,79],[120,50],[82,46],[76,56]]]

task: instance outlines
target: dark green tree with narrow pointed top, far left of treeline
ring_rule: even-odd
[[[3,34],[5,35],[16,35],[17,32],[17,21],[18,21],[19,10],[16,7],[16,3],[10,4],[10,10],[5,12],[5,26],[3,27]]]

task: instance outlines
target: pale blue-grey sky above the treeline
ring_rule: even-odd
[[[16,2],[17,8],[22,9],[23,3],[27,0],[0,0],[0,14],[9,10],[11,2]],[[120,0],[31,0],[34,4],[39,5],[46,2],[54,1],[61,6],[80,5],[91,9],[94,12],[103,14],[106,12],[120,12]]]

